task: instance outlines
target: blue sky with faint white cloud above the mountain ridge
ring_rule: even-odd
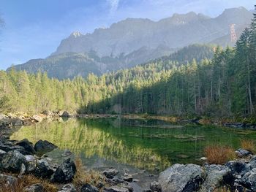
[[[0,0],[0,69],[53,53],[73,31],[92,33],[126,18],[159,20],[194,11],[253,9],[255,0]]]

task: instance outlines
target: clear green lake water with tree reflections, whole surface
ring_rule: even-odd
[[[23,126],[11,139],[46,139],[61,149],[82,155],[90,166],[125,165],[161,171],[171,164],[201,164],[207,145],[234,149],[244,138],[256,139],[256,131],[217,126],[172,125],[157,120],[68,119]],[[106,165],[106,163],[104,163]]]

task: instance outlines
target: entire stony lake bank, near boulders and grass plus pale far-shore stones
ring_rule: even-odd
[[[0,115],[0,181],[2,191],[136,191],[133,183],[140,178],[133,173],[120,175],[117,167],[101,172],[86,172],[79,159],[69,158],[72,151],[64,150],[64,161],[53,163],[48,152],[58,146],[39,140],[10,140],[13,127],[44,120],[59,120],[69,112],[44,112],[39,115]],[[72,115],[73,116],[73,115]],[[115,118],[117,115],[80,115],[83,118]],[[77,117],[77,115],[75,115]],[[129,115],[127,118],[136,118]],[[186,121],[186,120],[184,120]],[[193,122],[195,120],[187,120]],[[197,123],[197,122],[195,122]],[[231,125],[231,124],[230,124]],[[238,125],[233,124],[233,126]],[[247,127],[238,126],[238,127]],[[250,125],[249,128],[253,128]],[[173,164],[153,177],[143,191],[256,191],[256,156],[238,149],[236,158],[225,164]]]

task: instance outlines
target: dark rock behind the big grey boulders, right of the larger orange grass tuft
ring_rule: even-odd
[[[244,176],[250,170],[249,166],[243,161],[229,161],[226,166],[230,168],[232,174],[240,174],[241,176]]]

